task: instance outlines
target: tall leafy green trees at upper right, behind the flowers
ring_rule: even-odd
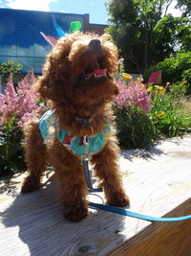
[[[107,4],[111,15],[108,32],[113,35],[129,72],[142,72],[168,58],[177,50],[177,44],[188,47],[186,20],[166,14],[172,1],[110,0]]]

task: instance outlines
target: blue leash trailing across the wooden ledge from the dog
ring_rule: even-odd
[[[90,190],[90,192],[102,192],[102,189],[95,189],[92,186],[92,178],[90,175],[90,171],[89,171],[89,166],[88,166],[88,159],[83,159],[82,160],[82,165],[83,165],[83,169],[84,169],[84,175],[85,175],[85,179],[86,179],[86,183],[87,186]],[[100,203],[96,203],[96,202],[89,202],[89,205],[91,207],[94,208],[98,208],[100,210],[104,210],[107,212],[112,212],[112,213],[117,213],[123,216],[129,216],[129,217],[133,217],[133,218],[137,218],[140,220],[144,220],[144,221],[162,221],[162,222],[172,222],[172,221],[186,221],[186,220],[191,220],[191,215],[187,215],[187,216],[182,216],[182,217],[176,217],[176,218],[165,218],[165,217],[152,217],[152,216],[148,216],[148,215],[143,215],[143,214],[138,214],[129,210],[125,210],[125,209],[121,209],[115,206],[110,206],[110,205],[106,205],[106,204],[100,204]]]

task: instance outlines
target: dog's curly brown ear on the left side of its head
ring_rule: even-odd
[[[68,98],[70,94],[71,62],[68,58],[74,35],[60,38],[47,57],[44,75],[34,84],[34,89],[45,100],[56,101]],[[62,95],[62,97],[60,97]]]

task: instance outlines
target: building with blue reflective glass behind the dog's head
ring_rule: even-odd
[[[102,34],[107,25],[90,24],[89,14],[36,12],[0,9],[0,63],[9,59],[23,65],[23,73],[33,69],[39,74],[51,45],[40,35],[53,35],[53,16],[64,32],[69,32],[73,21],[80,21],[81,31]]]

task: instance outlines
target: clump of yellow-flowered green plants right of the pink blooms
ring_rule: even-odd
[[[182,113],[180,106],[180,96],[175,93],[166,92],[169,83],[166,86],[149,86],[152,91],[153,108],[148,114],[153,123],[156,138],[174,137],[188,131],[186,125],[190,117]]]

